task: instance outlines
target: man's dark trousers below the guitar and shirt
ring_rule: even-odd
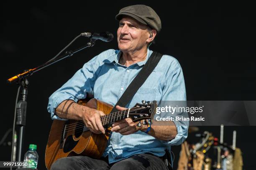
[[[168,170],[159,157],[151,154],[138,154],[112,164],[106,159],[93,159],[87,156],[63,157],[56,160],[51,170]]]

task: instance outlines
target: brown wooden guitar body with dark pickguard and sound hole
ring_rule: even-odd
[[[100,110],[105,114],[109,114],[113,108],[110,104],[97,99],[90,101],[83,99],[77,103]],[[45,152],[47,169],[50,169],[51,165],[61,157],[88,155],[100,158],[102,156],[107,145],[109,131],[107,130],[105,134],[95,134],[90,130],[83,132],[81,124],[83,122],[77,120],[54,120]]]

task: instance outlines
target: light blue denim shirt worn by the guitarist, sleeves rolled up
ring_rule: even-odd
[[[77,102],[79,99],[86,98],[86,93],[114,106],[153,51],[148,49],[146,60],[129,67],[118,62],[121,53],[121,51],[110,49],[85,63],[82,69],[49,97],[48,111],[51,113],[51,118],[61,119],[54,112],[62,101],[70,99]],[[182,68],[174,57],[162,56],[154,71],[125,107],[131,108],[142,100],[186,100]],[[188,124],[176,121],[174,123],[177,127],[177,135],[170,141],[156,140],[141,131],[129,135],[113,132],[103,156],[108,155],[109,163],[146,152],[159,157],[163,156],[165,149],[170,150],[171,145],[180,145],[187,138]],[[183,125],[178,125],[180,123]]]

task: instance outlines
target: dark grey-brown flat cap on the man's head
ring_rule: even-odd
[[[161,20],[156,12],[146,5],[131,5],[122,8],[118,15],[115,16],[116,20],[121,20],[123,15],[128,15],[138,22],[148,25],[150,28],[156,30],[158,33],[161,30]]]

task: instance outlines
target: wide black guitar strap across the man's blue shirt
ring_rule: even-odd
[[[131,84],[127,87],[123,95],[120,97],[118,102],[115,104],[115,107],[111,110],[110,113],[118,112],[116,109],[116,106],[119,105],[121,107],[125,107],[126,104],[133,98],[133,96],[136,94],[138,89],[142,86],[142,84],[146,81],[148,76],[152,73],[152,71],[155,69],[156,65],[159,63],[161,57],[163,55],[161,53],[158,53],[154,51],[151,56],[148,58],[148,61],[143,66],[141,71],[138,73],[138,75],[133,79]]]

